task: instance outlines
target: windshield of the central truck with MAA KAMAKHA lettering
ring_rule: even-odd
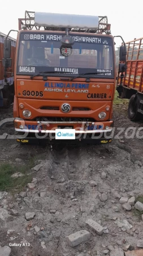
[[[110,37],[70,34],[75,43],[62,45],[65,34],[25,33],[20,35],[17,74],[56,72],[51,76],[96,73],[92,77],[114,78],[113,42]]]

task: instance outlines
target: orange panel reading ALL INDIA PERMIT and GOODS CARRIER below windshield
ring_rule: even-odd
[[[111,101],[113,98],[113,82],[64,82],[43,80],[17,80],[17,96],[19,98],[35,98],[41,100],[88,100]]]

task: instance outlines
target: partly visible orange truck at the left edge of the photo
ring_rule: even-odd
[[[4,41],[6,38],[11,42],[11,67],[5,65]],[[7,108],[10,102],[14,99],[14,75],[12,75],[12,73],[14,73],[15,47],[16,39],[11,38],[10,36],[7,37],[0,32],[0,108]],[[3,65],[5,68],[3,68]]]

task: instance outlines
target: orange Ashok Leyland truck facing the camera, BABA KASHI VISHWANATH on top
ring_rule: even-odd
[[[107,16],[25,11],[14,75],[18,142],[111,142],[116,68]]]

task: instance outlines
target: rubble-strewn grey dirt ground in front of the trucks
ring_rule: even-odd
[[[7,117],[12,117],[12,107],[8,114],[0,110],[0,121]],[[24,197],[16,189],[0,197],[0,246],[28,243],[10,246],[11,256],[103,256],[110,255],[111,246],[127,250],[131,245],[136,249],[143,237],[141,214],[134,206],[124,210],[116,192],[128,199],[143,195],[142,139],[136,133],[134,138],[125,138],[125,131],[118,139],[117,128],[134,127],[137,131],[142,123],[129,121],[127,107],[122,104],[114,107],[114,121],[116,137],[111,144],[55,144],[51,148],[0,140],[1,164],[21,166],[31,158],[35,159],[34,166],[41,164],[38,171],[28,170],[37,180],[33,189],[23,188],[27,192]],[[3,133],[14,133],[12,123],[0,127]],[[91,180],[95,181],[93,187]],[[35,213],[32,221],[25,220],[27,212]],[[88,219],[104,227],[101,236],[86,226]],[[128,226],[119,223],[123,220]],[[70,247],[66,237],[83,229],[90,232],[90,239]],[[13,231],[7,234],[8,230]]]

